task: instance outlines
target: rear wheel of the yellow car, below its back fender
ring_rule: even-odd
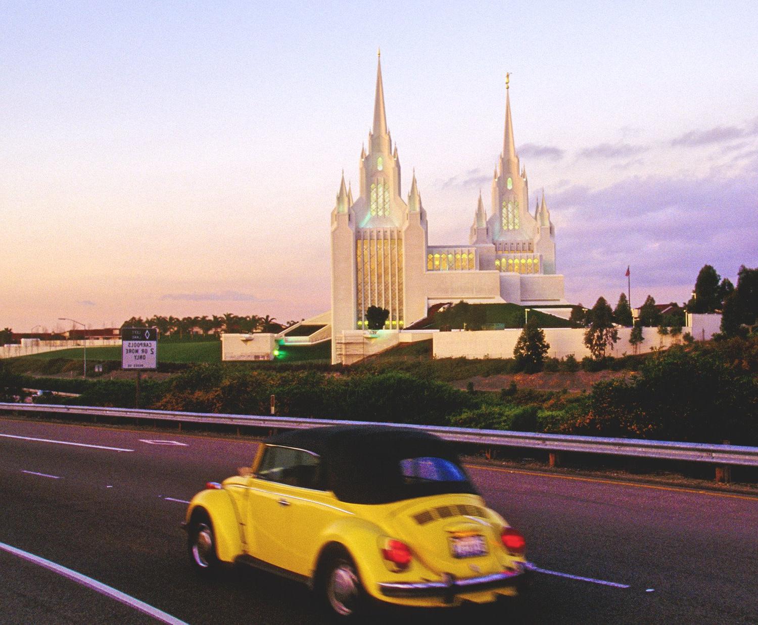
[[[321,569],[318,593],[321,603],[335,620],[359,620],[367,598],[355,562],[345,549],[335,549]]]

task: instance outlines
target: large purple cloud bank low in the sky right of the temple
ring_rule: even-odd
[[[567,298],[614,298],[625,287],[627,265],[633,295],[656,292],[663,301],[686,298],[706,263],[733,279],[755,258],[756,173],[758,155],[737,173],[630,176],[603,189],[573,185],[548,196]]]

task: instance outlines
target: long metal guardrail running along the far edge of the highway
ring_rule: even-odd
[[[297,417],[268,417],[245,414],[207,414],[202,412],[172,412],[163,410],[137,410],[133,408],[99,408],[92,406],[63,406],[55,404],[8,404],[0,402],[0,412],[41,412],[79,414],[92,417],[121,417],[149,419],[180,423],[209,423],[231,426],[261,427],[281,430],[297,430],[305,427],[328,425],[365,424],[369,421],[346,421],[334,419],[300,419]],[[470,430],[464,427],[441,427],[384,423],[396,427],[410,427],[440,436],[450,442],[470,443],[487,447],[520,447],[542,449],[546,452],[581,452],[735,464],[758,467],[758,447],[741,445],[709,445],[697,442],[651,441],[643,439],[611,439],[597,436],[571,436],[567,434],[540,434],[510,432],[507,430]]]

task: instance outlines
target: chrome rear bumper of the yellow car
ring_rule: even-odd
[[[480,577],[456,578],[446,573],[439,582],[385,582],[379,584],[379,592],[386,597],[436,597],[452,603],[456,595],[468,592],[521,586],[528,576],[528,570],[528,563],[518,563],[515,570],[504,570]]]

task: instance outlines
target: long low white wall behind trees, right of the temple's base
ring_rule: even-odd
[[[577,360],[590,356],[590,350],[584,345],[584,330],[581,328],[544,328],[545,340],[550,344],[548,356],[564,358],[573,354]],[[682,328],[681,333],[690,332],[691,328]],[[434,358],[513,358],[520,329],[482,330],[480,332],[439,332],[432,337]],[[634,353],[629,344],[631,328],[619,328],[619,341],[609,356],[622,356]],[[659,336],[656,328],[643,328],[644,341],[638,345],[637,353],[650,352],[652,348],[669,347],[671,336]],[[681,341],[681,336],[679,337]]]

